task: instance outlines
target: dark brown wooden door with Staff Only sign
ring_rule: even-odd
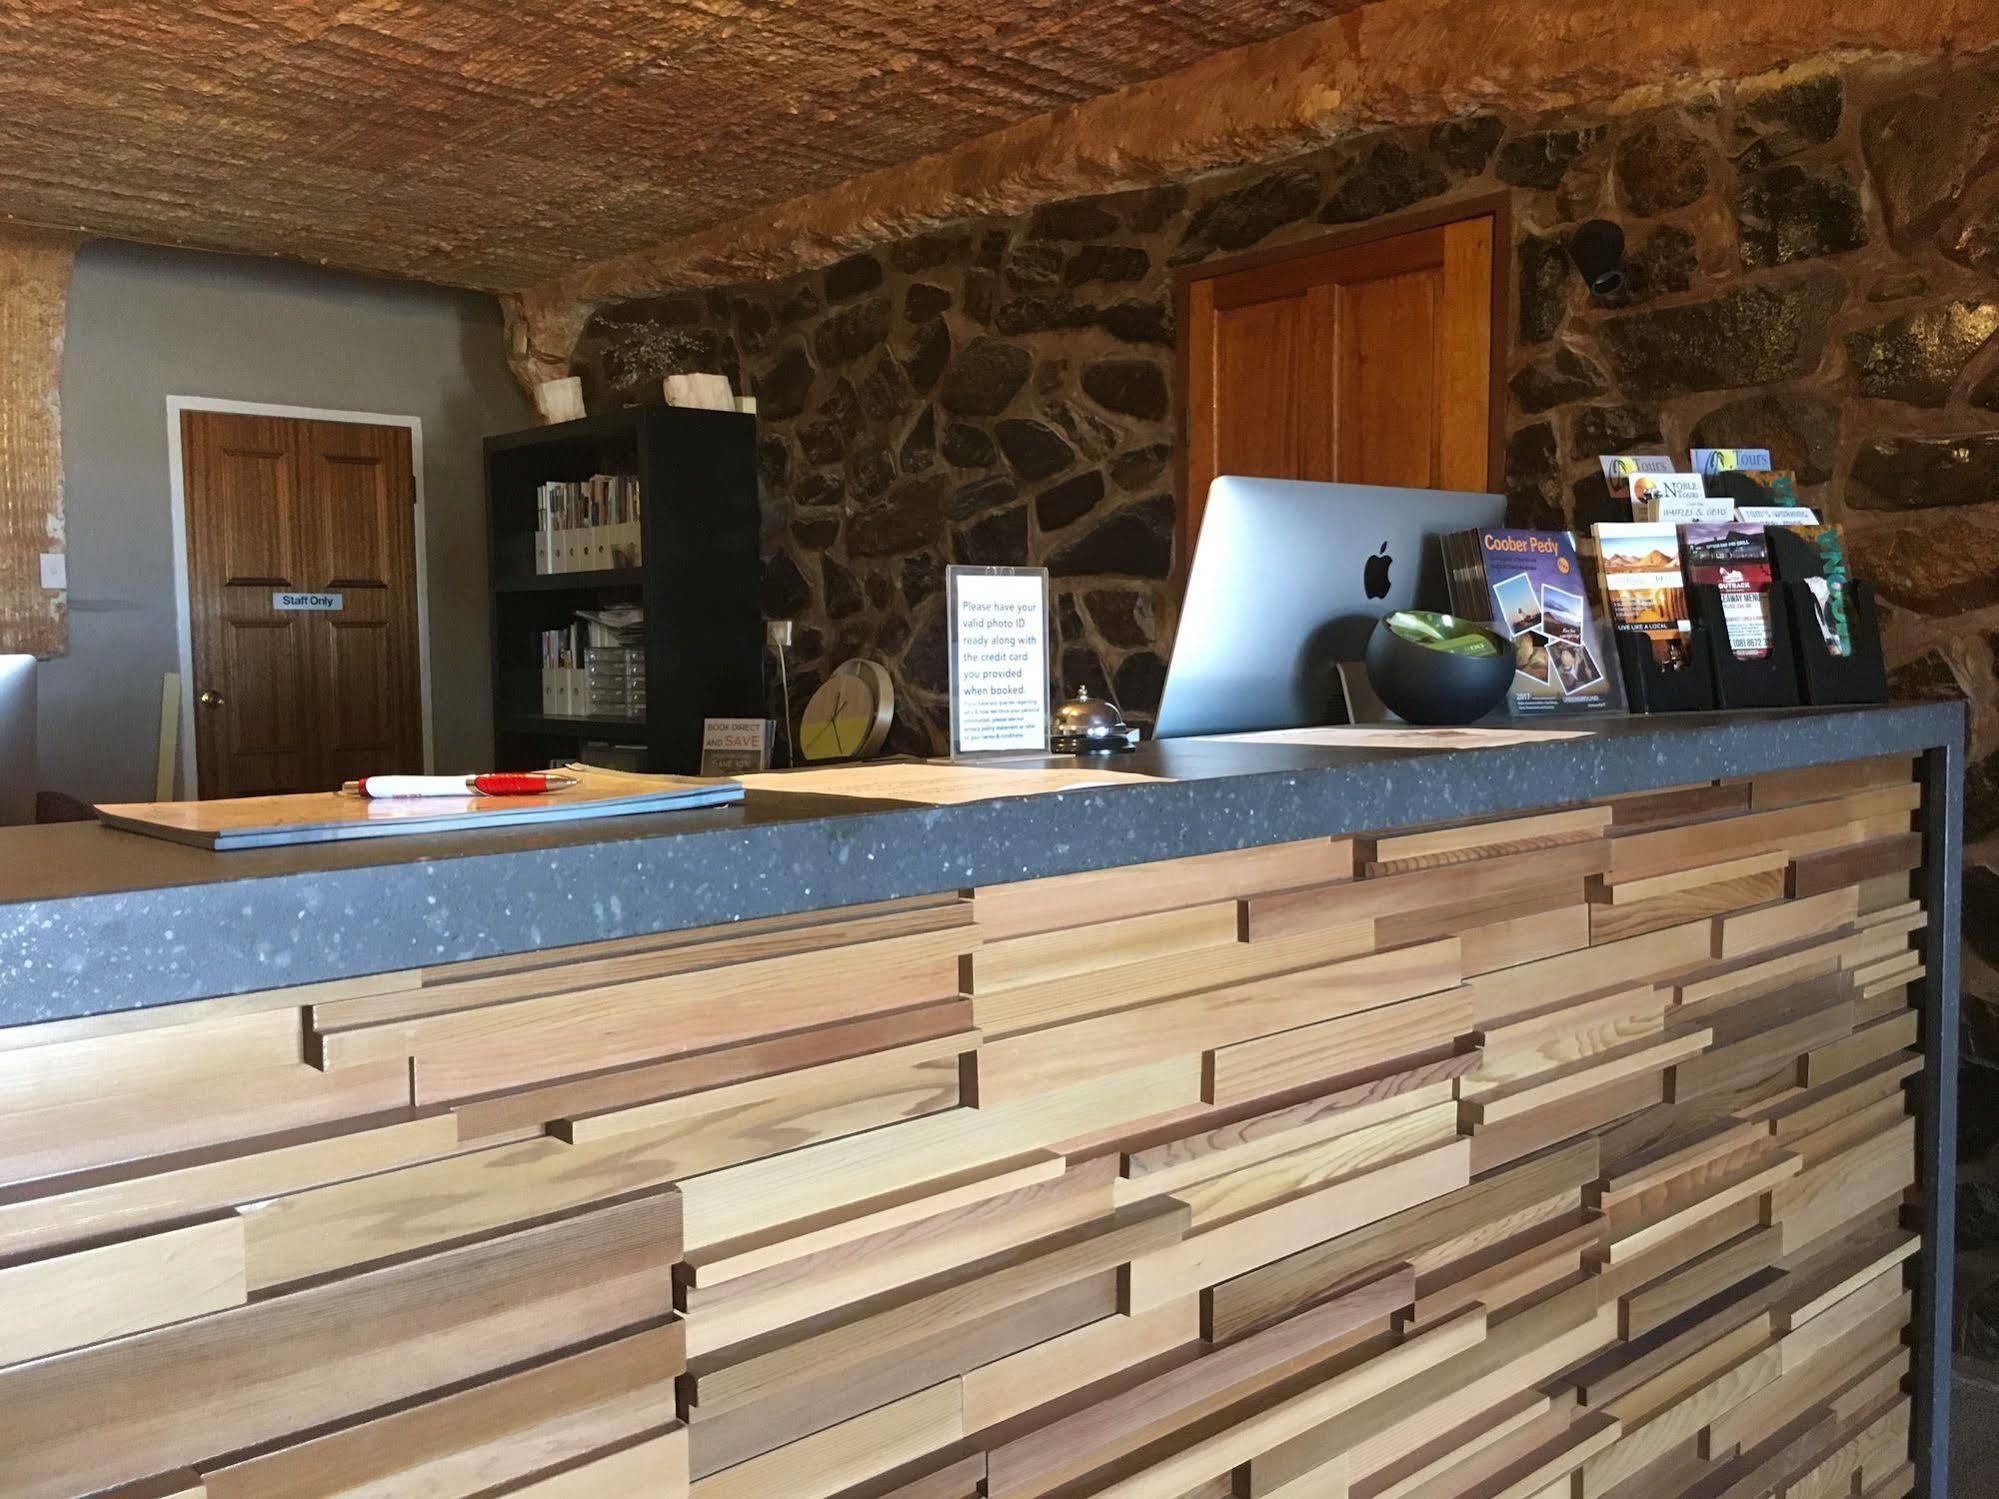
[[[408,430],[182,412],[182,466],[202,795],[422,767]]]

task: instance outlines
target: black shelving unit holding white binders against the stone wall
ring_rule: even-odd
[[[536,492],[636,474],[642,568],[536,574]],[[764,714],[756,418],[638,406],[486,440],[494,763],[530,769],[586,742],[646,748],[646,769],[692,773],[704,718]],[[542,712],[540,638],[606,604],[646,606],[642,724]]]

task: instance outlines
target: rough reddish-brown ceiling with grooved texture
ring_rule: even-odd
[[[0,0],[0,220],[518,290],[1361,0]]]

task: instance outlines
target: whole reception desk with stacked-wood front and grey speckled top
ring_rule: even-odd
[[[8,833],[0,1493],[1929,1493],[1961,748]]]

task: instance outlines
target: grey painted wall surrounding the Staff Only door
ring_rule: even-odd
[[[498,304],[102,242],[84,246],[70,284],[70,652],[42,664],[42,787],[152,795],[160,676],[178,670],[168,396],[422,420],[438,767],[478,769],[492,753],[480,438],[534,420],[506,368]]]

